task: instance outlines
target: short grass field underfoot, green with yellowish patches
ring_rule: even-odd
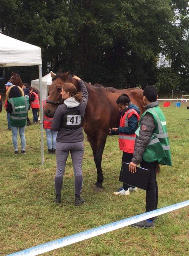
[[[162,109],[167,119],[173,166],[163,166],[157,176],[159,208],[189,199],[189,110],[185,103],[176,109],[173,102]],[[31,111],[29,116],[32,117]],[[26,155],[15,156],[5,110],[0,118],[0,255],[145,212],[145,191],[139,189],[130,196],[113,195],[121,185],[118,177],[122,152],[117,136],[108,137],[103,154],[104,191],[95,193],[92,189],[96,169],[85,138],[82,196],[86,204],[74,206],[74,175],[69,157],[63,203],[56,205],[56,159],[47,154],[44,139],[45,163],[40,165],[40,125],[26,127]],[[121,228],[43,255],[189,255],[189,207],[160,216],[155,226],[151,230]]]

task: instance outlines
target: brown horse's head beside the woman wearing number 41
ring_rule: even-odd
[[[45,115],[53,117],[57,107],[62,104],[61,90],[62,86],[66,83],[72,83],[77,88],[77,81],[69,75],[69,72],[54,74],[51,72],[52,84],[49,86],[49,98],[45,105]]]

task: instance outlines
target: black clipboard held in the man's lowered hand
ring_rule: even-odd
[[[146,190],[150,170],[138,166],[136,168],[137,172],[129,172],[129,163],[122,162],[119,181],[122,181],[123,183],[128,184],[130,186]]]

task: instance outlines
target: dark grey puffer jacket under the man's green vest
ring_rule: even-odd
[[[148,105],[146,105],[144,108],[154,108],[158,106],[158,102],[152,102]],[[140,164],[142,161],[142,156],[144,154],[145,148],[150,142],[150,139],[152,137],[152,133],[155,130],[155,122],[154,122],[154,117],[150,113],[146,113],[146,115],[142,118],[142,121],[140,123],[140,132],[139,132],[139,137],[136,138],[135,143],[134,143],[134,153],[133,153],[133,158],[132,162],[134,164]]]

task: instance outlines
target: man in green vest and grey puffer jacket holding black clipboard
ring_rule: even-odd
[[[135,132],[138,137],[135,140],[132,162],[129,164],[129,171],[133,175],[138,164],[150,170],[146,190],[146,212],[157,209],[156,173],[158,173],[159,164],[172,165],[166,120],[157,99],[157,89],[154,86],[147,86],[143,92],[146,111],[140,117],[139,126]],[[132,227],[154,228],[154,218],[137,222]]]

